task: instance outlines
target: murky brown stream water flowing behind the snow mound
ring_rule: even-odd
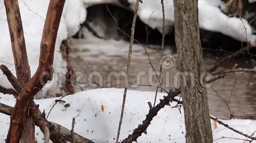
[[[95,88],[124,88],[124,73],[127,68],[129,43],[86,38],[71,39],[71,45],[71,64],[76,75],[76,82],[73,82],[73,86],[76,92]],[[159,71],[160,47],[160,45],[151,45],[150,48],[146,48],[146,53],[143,46],[138,44],[133,46],[129,72],[129,84],[131,86],[129,89],[156,91],[157,78],[154,69]],[[174,48],[166,47],[164,50],[162,87],[167,91],[169,88],[175,88],[178,85],[176,55],[175,50],[172,49]],[[214,52],[204,51],[205,69],[210,68],[223,57],[223,54],[212,53]],[[150,57],[151,62],[148,57]],[[249,60],[248,62],[243,57],[239,57],[228,61],[219,70],[230,69],[235,63],[240,68],[253,68],[252,61]],[[222,119],[230,118],[230,112],[235,116],[234,118],[255,119],[255,79],[256,76],[253,73],[231,73],[227,74],[224,79],[219,79],[207,85],[210,113]],[[159,90],[159,92],[161,91]],[[151,102],[153,103],[154,99]]]

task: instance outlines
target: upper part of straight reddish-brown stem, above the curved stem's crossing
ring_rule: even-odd
[[[17,79],[21,86],[30,80],[23,25],[18,0],[4,0]]]

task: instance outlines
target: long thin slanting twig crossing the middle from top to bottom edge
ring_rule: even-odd
[[[134,41],[135,25],[136,25],[136,19],[137,19],[137,12],[139,9],[139,2],[140,2],[140,0],[137,0],[135,11],[134,11],[134,16],[133,16],[133,20],[132,20],[132,32],[131,32],[129,54],[128,54],[128,61],[127,61],[126,79],[125,79],[125,84],[124,84],[124,97],[123,97],[122,110],[121,110],[121,115],[120,115],[120,122],[119,122],[119,126],[118,126],[118,131],[117,131],[116,143],[118,143],[119,136],[120,136],[120,130],[121,130],[121,125],[122,125],[122,120],[123,120],[123,115],[124,115],[124,105],[125,105],[125,100],[126,100],[126,93],[127,93],[127,89],[129,86],[128,85],[129,69],[130,69],[130,64],[131,64],[132,45],[133,45],[133,41]]]

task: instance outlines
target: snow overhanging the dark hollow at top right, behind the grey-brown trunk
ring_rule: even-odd
[[[135,8],[136,0],[128,0]],[[166,31],[173,29],[174,25],[174,8],[173,0],[164,0],[165,14],[166,14]],[[230,18],[226,14],[223,14],[218,8],[225,9],[225,4],[221,0],[199,0],[199,23],[200,28],[210,30],[213,32],[221,32],[224,35],[231,36],[234,39],[246,41],[245,29],[239,18]],[[152,14],[153,13],[153,14]],[[152,14],[152,16],[151,16]],[[162,32],[162,5],[160,0],[144,0],[143,4],[139,5],[138,10],[139,18],[148,24],[148,20],[151,16],[149,25],[153,29],[158,29]],[[247,29],[248,41],[255,42],[256,36],[252,35],[252,28],[248,24],[248,21],[243,19],[245,27]]]

